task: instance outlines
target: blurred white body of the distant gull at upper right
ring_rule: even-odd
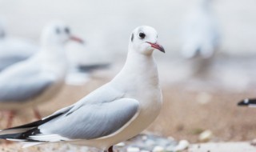
[[[217,20],[211,10],[212,0],[198,0],[183,25],[182,56],[210,58],[219,45]]]

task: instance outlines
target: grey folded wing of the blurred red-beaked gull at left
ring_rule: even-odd
[[[42,94],[53,82],[53,78],[40,74],[36,69],[6,74],[0,77],[0,101],[26,101]]]

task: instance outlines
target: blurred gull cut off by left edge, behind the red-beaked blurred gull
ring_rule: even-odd
[[[36,54],[39,46],[25,38],[14,38],[7,34],[3,22],[0,22],[0,71],[16,62],[21,62]]]

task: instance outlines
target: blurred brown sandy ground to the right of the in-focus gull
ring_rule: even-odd
[[[215,141],[243,141],[256,137],[255,110],[236,106],[237,101],[252,97],[252,93],[219,91],[210,94],[208,103],[200,102],[205,93],[166,88],[163,94],[162,113],[151,130],[190,142],[198,142],[198,134],[203,130],[212,130]]]

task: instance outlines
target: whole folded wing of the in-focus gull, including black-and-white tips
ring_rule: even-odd
[[[60,142],[79,139],[103,138],[114,134],[138,115],[138,101],[119,98],[110,102],[97,102],[66,107],[47,118],[24,126],[3,130],[0,138],[23,142]],[[15,132],[22,130],[24,132]],[[6,133],[6,134],[5,134]]]

